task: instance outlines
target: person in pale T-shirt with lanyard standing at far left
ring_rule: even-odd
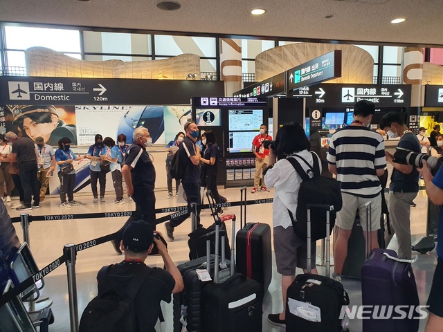
[[[37,180],[40,181],[40,202],[42,202],[48,189],[48,176],[55,170],[55,152],[51,145],[44,143],[42,136],[35,138],[35,151],[38,156]]]

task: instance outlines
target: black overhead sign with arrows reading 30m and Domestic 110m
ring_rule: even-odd
[[[318,84],[304,86],[293,96],[306,98],[307,107],[353,107],[363,99],[374,102],[376,107],[408,107],[410,85]]]

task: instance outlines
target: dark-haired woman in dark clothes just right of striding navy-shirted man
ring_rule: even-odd
[[[215,203],[219,204],[221,201],[219,191],[217,190],[217,173],[220,149],[215,141],[213,131],[208,130],[201,135],[201,144],[206,147],[203,158],[200,158],[203,163],[203,169],[201,170],[202,184],[206,183],[206,189],[213,193]],[[217,212],[222,214],[223,210],[218,208]]]

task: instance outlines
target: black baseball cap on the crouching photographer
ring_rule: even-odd
[[[123,246],[133,252],[147,251],[154,241],[154,228],[143,220],[133,221],[123,231]]]

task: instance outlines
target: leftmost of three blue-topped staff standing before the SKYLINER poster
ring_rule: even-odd
[[[82,159],[81,156],[76,156],[71,150],[71,140],[67,137],[61,138],[58,141],[58,149],[55,151],[55,163],[59,166],[58,178],[60,178],[60,205],[62,208],[71,208],[71,205],[80,205],[74,201],[74,186],[75,186],[75,169],[71,172],[62,172],[62,168],[72,164],[74,160]],[[68,194],[68,201],[66,202],[66,194]]]

